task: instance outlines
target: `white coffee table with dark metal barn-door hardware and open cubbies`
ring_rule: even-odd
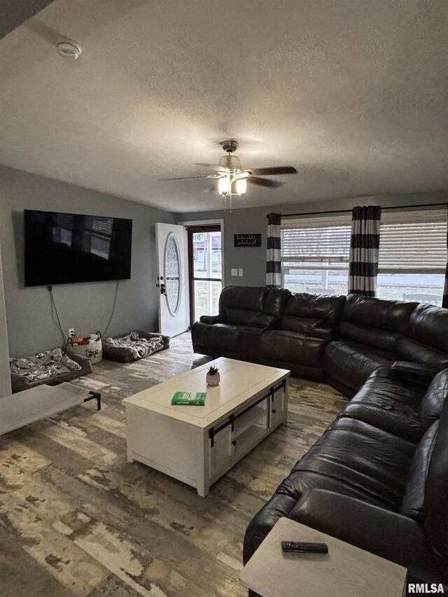
[[[219,386],[207,386],[216,365]],[[197,488],[209,487],[288,415],[289,371],[217,358],[123,400],[127,460],[139,461]],[[172,406],[175,392],[204,392],[203,407]]]

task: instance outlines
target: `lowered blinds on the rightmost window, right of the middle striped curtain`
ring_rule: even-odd
[[[447,210],[383,211],[379,273],[443,274],[447,265]]]

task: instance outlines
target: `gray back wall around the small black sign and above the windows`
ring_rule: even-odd
[[[281,192],[281,191],[279,191]],[[235,199],[237,202],[237,199]],[[448,202],[448,191],[421,192],[412,195],[382,195],[377,197],[361,197],[358,199],[331,199],[330,201],[286,204],[269,207],[252,207],[228,211],[201,211],[194,213],[179,213],[178,221],[211,220],[223,218],[224,220],[224,259],[225,259],[225,284],[227,286],[265,286],[266,281],[266,232],[269,211],[277,213],[318,213],[339,209],[351,209],[356,205],[381,205],[402,206],[430,203]],[[235,248],[233,235],[239,233],[261,233],[260,248]],[[232,268],[242,268],[242,277],[230,275]]]

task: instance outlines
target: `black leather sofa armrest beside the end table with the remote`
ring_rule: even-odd
[[[423,524],[414,519],[323,489],[306,491],[289,517],[419,575],[440,577]]]

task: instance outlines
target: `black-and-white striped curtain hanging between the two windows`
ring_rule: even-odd
[[[353,207],[351,211],[349,294],[377,293],[381,207]]]

